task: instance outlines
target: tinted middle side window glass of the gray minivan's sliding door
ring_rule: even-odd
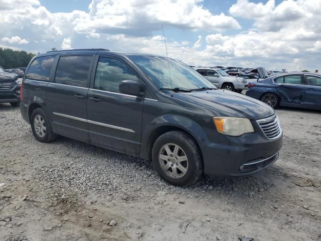
[[[86,87],[92,56],[62,56],[56,70],[55,82]]]

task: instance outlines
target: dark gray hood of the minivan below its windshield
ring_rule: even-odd
[[[273,108],[257,99],[228,90],[176,93],[174,97],[207,107],[215,116],[261,119],[275,113]]]

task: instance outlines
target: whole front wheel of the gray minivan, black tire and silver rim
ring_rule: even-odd
[[[190,135],[181,131],[165,133],[155,141],[152,163],[158,175],[175,186],[191,185],[203,174],[199,147]]]

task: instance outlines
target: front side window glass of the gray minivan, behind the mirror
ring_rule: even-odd
[[[111,58],[101,57],[99,59],[94,83],[95,89],[120,93],[119,83],[126,79],[138,81],[133,70],[125,63]]]

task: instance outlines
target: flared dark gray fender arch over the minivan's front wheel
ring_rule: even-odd
[[[204,141],[209,141],[208,135],[205,131],[192,119],[175,114],[167,114],[154,118],[142,130],[141,150],[142,155],[148,156],[153,142],[158,138],[159,133],[166,133],[168,131],[181,129],[189,133],[199,144]],[[202,149],[202,148],[201,148]]]

